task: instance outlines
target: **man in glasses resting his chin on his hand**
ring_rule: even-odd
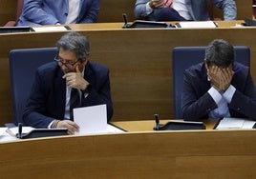
[[[113,114],[109,70],[89,61],[87,38],[78,32],[69,32],[57,42],[57,49],[54,61],[36,70],[23,114],[25,125],[67,128],[74,134],[79,127],[73,121],[73,110],[70,109],[72,90],[78,96],[76,108],[106,104],[109,121]]]

